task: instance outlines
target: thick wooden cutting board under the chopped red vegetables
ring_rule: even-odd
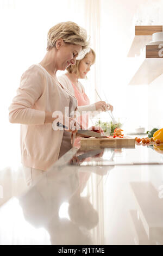
[[[80,145],[83,148],[135,148],[135,139],[129,136],[123,138],[82,138]]]

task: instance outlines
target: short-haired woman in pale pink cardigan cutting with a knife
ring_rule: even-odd
[[[58,82],[56,72],[74,65],[88,44],[83,28],[74,22],[61,22],[48,31],[45,57],[21,77],[9,107],[9,121],[21,124],[21,160],[29,183],[72,147],[70,113],[77,109],[77,100]],[[53,130],[57,117],[53,113],[64,115],[65,107],[69,107],[67,131]]]

